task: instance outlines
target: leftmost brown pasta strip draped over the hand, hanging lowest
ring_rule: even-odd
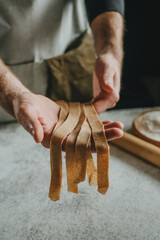
[[[51,161],[52,173],[49,189],[49,197],[53,201],[60,199],[60,191],[62,187],[62,143],[63,140],[73,131],[77,125],[79,115],[75,118],[77,104],[69,103],[69,115],[64,123],[53,131],[51,138]],[[76,121],[77,119],[77,121]]]

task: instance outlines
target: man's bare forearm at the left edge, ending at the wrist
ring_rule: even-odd
[[[0,59],[0,106],[14,116],[13,100],[24,92],[29,90]]]

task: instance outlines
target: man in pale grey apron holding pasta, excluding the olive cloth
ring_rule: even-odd
[[[124,2],[86,0],[85,3],[97,52],[93,102],[100,113],[113,108],[119,99]],[[70,41],[87,28],[81,0],[0,0],[1,106],[36,142],[46,147],[58,121],[59,107],[39,95],[46,88],[44,59],[62,54]],[[121,123],[106,125],[108,140],[122,135]]]

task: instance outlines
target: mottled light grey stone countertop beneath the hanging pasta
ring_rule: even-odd
[[[125,130],[142,109],[114,110]],[[67,193],[65,158],[61,200],[48,198],[49,150],[17,123],[0,125],[0,240],[160,240],[160,169],[111,146],[105,196],[80,184]]]

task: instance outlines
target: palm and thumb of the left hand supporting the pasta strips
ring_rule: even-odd
[[[37,143],[49,148],[52,131],[58,121],[59,106],[47,97],[23,93],[13,99],[17,121]]]

